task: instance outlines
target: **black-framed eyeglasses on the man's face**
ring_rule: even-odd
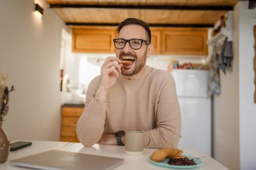
[[[131,48],[133,48],[133,50],[139,50],[139,48],[141,48],[142,46],[142,42],[145,42],[147,45],[150,44],[150,42],[146,41],[146,40],[141,40],[141,39],[130,39],[130,40],[125,40],[123,38],[118,38],[118,39],[114,39],[114,44],[115,44],[115,48],[121,50],[123,48],[125,48],[125,44],[128,42],[129,46]]]

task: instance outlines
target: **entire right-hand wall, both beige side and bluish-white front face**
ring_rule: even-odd
[[[228,169],[256,169],[254,36],[256,9],[248,1],[234,8],[232,71],[220,73],[221,94],[214,96],[214,158]]]

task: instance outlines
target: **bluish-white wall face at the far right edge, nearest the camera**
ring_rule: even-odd
[[[248,4],[240,1],[235,9],[239,17],[239,142],[241,169],[256,169],[256,103],[253,102],[256,9],[248,9]]]

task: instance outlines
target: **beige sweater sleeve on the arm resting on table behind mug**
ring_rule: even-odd
[[[181,111],[172,75],[162,84],[156,105],[156,128],[144,131],[145,141],[150,142],[147,147],[177,147],[181,137]]]

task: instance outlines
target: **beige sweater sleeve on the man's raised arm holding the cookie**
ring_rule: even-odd
[[[104,132],[106,103],[101,103],[94,99],[98,83],[99,77],[96,77],[90,83],[86,93],[84,113],[77,121],[77,138],[84,146],[92,146],[98,142]]]

